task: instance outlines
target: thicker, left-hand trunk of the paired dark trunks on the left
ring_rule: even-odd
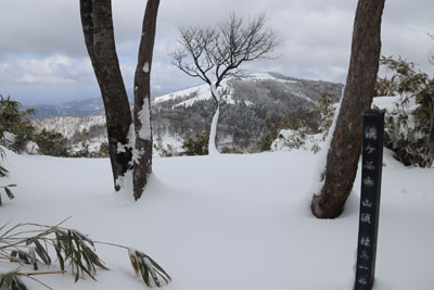
[[[131,167],[131,149],[125,149],[132,123],[131,111],[120,74],[113,34],[111,0],[80,0],[81,25],[86,47],[104,102],[108,135],[108,153],[116,182]]]

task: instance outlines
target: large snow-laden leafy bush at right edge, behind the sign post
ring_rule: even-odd
[[[432,167],[434,163],[434,80],[414,71],[414,64],[399,58],[381,58],[392,76],[379,78],[378,96],[395,96],[384,100],[385,147],[405,165]],[[375,105],[375,102],[374,102]]]

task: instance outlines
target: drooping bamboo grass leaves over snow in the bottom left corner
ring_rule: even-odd
[[[97,268],[108,268],[105,267],[104,262],[95,253],[95,242],[77,230],[60,227],[61,224],[62,223],[56,226],[43,226],[26,223],[18,224],[9,229],[7,229],[7,226],[1,226],[0,260],[9,259],[11,262],[30,264],[35,269],[37,269],[38,262],[51,265],[52,260],[48,248],[52,247],[55,251],[58,263],[61,268],[61,272],[55,272],[55,274],[64,273],[65,263],[68,263],[72,273],[75,276],[75,281],[78,281],[79,278],[84,278],[85,276],[89,276],[91,279],[97,280]],[[37,229],[18,229],[24,226],[33,226],[37,227]],[[23,237],[28,234],[34,236]],[[98,243],[128,249],[129,259],[136,277],[141,276],[148,287],[162,287],[170,281],[170,277],[167,273],[146,254],[115,243]],[[22,249],[27,249],[27,251],[22,251]],[[8,285],[13,283],[14,287],[16,286],[13,289],[26,289],[23,288],[25,286],[22,287],[18,282],[15,282],[15,280],[18,280],[18,276],[34,279],[31,275],[35,274],[36,273],[23,274],[17,270],[16,273],[13,273],[12,276],[8,275],[7,277],[3,275],[1,282],[3,283],[3,288],[4,283],[8,282]],[[54,273],[50,272],[50,274]],[[40,273],[36,275],[40,275]]]

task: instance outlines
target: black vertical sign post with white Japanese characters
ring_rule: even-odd
[[[383,166],[384,112],[363,114],[363,147],[360,194],[359,236],[355,290],[371,290],[379,231],[381,171]]]

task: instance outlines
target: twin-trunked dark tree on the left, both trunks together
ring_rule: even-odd
[[[139,199],[152,167],[150,76],[159,0],[148,0],[135,77],[135,123],[122,77],[113,33],[111,0],[80,0],[81,25],[104,102],[115,189],[133,167]],[[131,126],[132,125],[132,126]]]

